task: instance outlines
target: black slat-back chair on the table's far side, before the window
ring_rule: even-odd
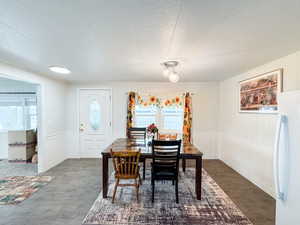
[[[145,127],[131,127],[128,129],[128,138],[131,144],[134,146],[146,146],[147,128]],[[143,179],[146,177],[146,159],[142,158],[143,163]]]

